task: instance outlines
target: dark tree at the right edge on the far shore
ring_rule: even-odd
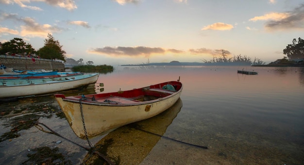
[[[299,37],[292,40],[292,44],[288,44],[283,50],[283,54],[287,55],[289,60],[303,60],[304,59],[304,40]]]

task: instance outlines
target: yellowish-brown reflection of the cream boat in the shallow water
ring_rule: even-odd
[[[112,162],[117,163],[119,161],[121,165],[138,165],[147,157],[166,132],[182,106],[182,100],[178,99],[172,107],[159,115],[117,128],[108,133],[95,147]],[[87,154],[84,160],[89,156]],[[98,161],[102,160],[94,155],[86,160],[85,164]]]

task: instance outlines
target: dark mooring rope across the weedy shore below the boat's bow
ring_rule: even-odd
[[[110,164],[110,165],[115,165],[107,156],[105,156],[105,155],[103,155],[102,153],[100,153],[100,152],[94,150],[94,147],[87,148],[87,147],[81,146],[81,145],[79,145],[79,144],[77,144],[77,143],[75,143],[75,142],[73,142],[73,141],[71,141],[71,140],[69,140],[69,139],[67,139],[67,138],[65,138],[65,137],[63,137],[63,136],[61,136],[59,133],[55,132],[54,130],[52,130],[51,128],[49,128],[48,126],[46,126],[46,125],[43,124],[43,123],[35,122],[34,124],[35,124],[35,127],[38,128],[39,130],[41,130],[41,131],[43,131],[43,132],[46,132],[46,133],[54,134],[54,135],[56,135],[56,136],[59,136],[59,137],[65,139],[65,140],[67,140],[67,141],[69,141],[69,142],[71,142],[71,143],[73,143],[73,144],[79,146],[79,147],[84,148],[85,150],[87,150],[87,151],[89,151],[89,152],[92,151],[92,153],[96,153],[98,156],[100,156],[101,158],[103,158],[108,164]],[[38,124],[44,126],[45,128],[48,128],[50,131],[44,130],[44,129],[43,129],[41,126],[39,126]]]

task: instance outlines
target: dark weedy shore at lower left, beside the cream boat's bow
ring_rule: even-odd
[[[1,102],[0,107],[2,164],[77,165],[83,162],[88,152],[83,148],[88,148],[87,141],[74,134],[53,95]],[[99,140],[91,141],[95,144]]]

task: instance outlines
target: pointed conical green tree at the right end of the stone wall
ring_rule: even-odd
[[[55,40],[51,34],[48,34],[48,38],[44,40],[44,46],[37,51],[37,54],[46,59],[60,59],[66,61],[66,52],[61,49],[58,40]]]

